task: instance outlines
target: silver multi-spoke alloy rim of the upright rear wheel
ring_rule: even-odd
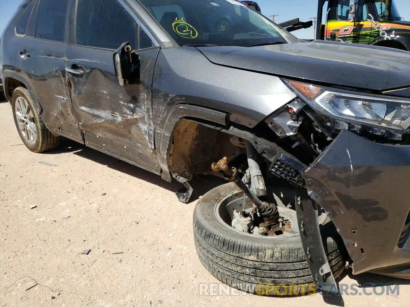
[[[30,145],[34,145],[37,140],[37,126],[34,122],[33,111],[27,100],[23,97],[16,99],[15,113],[18,129],[23,139]]]

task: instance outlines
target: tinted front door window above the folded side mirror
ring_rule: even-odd
[[[147,34],[116,0],[79,0],[75,36],[77,45],[89,47],[115,50],[125,41],[130,41],[136,50],[153,46]]]

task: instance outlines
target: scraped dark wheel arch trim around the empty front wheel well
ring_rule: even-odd
[[[173,106],[169,111],[168,117],[164,120],[164,126],[160,137],[157,138],[157,148],[159,148],[158,158],[162,169],[162,178],[171,182],[171,173],[167,163],[167,155],[169,153],[173,129],[183,118],[197,119],[198,122],[213,122],[225,126],[228,122],[228,115],[226,113],[204,108],[201,106],[194,106],[189,104],[178,104]],[[178,181],[185,183],[184,178],[175,178]]]

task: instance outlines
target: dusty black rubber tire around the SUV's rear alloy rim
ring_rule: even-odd
[[[36,126],[37,126],[37,141],[34,145],[31,146],[29,144],[26,144],[25,140],[23,140],[22,138],[26,147],[35,153],[41,153],[41,152],[55,149],[56,147],[58,147],[60,137],[54,136],[51,133],[51,131],[47,129],[46,125],[43,123],[43,120],[41,119],[39,115],[39,110],[36,108],[36,105],[34,104],[30,91],[27,90],[26,88],[18,87],[14,90],[13,97],[12,97],[13,114],[15,112],[14,111],[15,101],[18,96],[23,96],[29,103],[30,108],[33,111],[34,122],[36,123]],[[15,115],[14,115],[14,121],[16,122]],[[16,122],[16,126],[17,126],[17,122]],[[19,131],[19,134],[20,134],[20,131]]]

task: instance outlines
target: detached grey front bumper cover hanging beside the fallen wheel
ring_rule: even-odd
[[[378,144],[344,130],[303,177],[341,235],[353,274],[410,279],[410,146]],[[323,249],[320,244],[314,248]]]

